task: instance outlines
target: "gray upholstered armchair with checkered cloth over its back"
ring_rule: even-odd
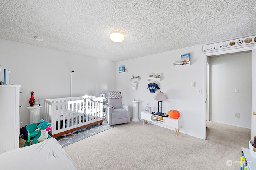
[[[112,109],[111,105],[114,107]],[[110,91],[106,105],[106,119],[109,125],[130,122],[130,106],[122,104],[120,91]]]

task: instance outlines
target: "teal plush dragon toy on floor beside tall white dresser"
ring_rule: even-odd
[[[45,122],[43,119],[40,120],[40,123],[32,123],[20,128],[20,138],[26,140],[24,147],[31,144],[30,140],[36,144],[50,138],[51,136],[48,134],[50,130],[52,130],[52,123]]]

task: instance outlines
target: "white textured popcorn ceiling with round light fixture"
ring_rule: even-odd
[[[256,33],[256,0],[0,0],[0,12],[2,39],[109,61]]]

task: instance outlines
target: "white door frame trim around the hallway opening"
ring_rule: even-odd
[[[224,55],[224,54],[230,54],[230,53],[238,53],[238,52],[244,52],[244,51],[252,51],[254,47],[254,43],[250,45],[246,45],[244,47],[235,48],[235,49],[228,49],[228,50],[222,50],[222,51],[213,51],[209,53],[204,53],[204,86],[203,86],[203,102],[204,102],[204,111],[203,111],[203,125],[204,125],[204,136],[203,138],[206,139],[206,119],[207,119],[207,57],[208,56],[214,56],[214,55]]]

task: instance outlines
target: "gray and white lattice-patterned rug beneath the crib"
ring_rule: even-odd
[[[103,132],[110,128],[113,128],[113,126],[108,125],[107,121],[103,121],[102,125],[100,125],[100,123],[98,123],[98,125],[90,127],[90,128],[86,128],[85,130],[82,130],[81,132],[70,134],[67,136],[58,137],[58,138],[56,138],[56,140],[60,143],[60,145],[63,148],[72,143],[78,142],[79,140],[83,140],[85,138],[88,138],[94,134]]]

